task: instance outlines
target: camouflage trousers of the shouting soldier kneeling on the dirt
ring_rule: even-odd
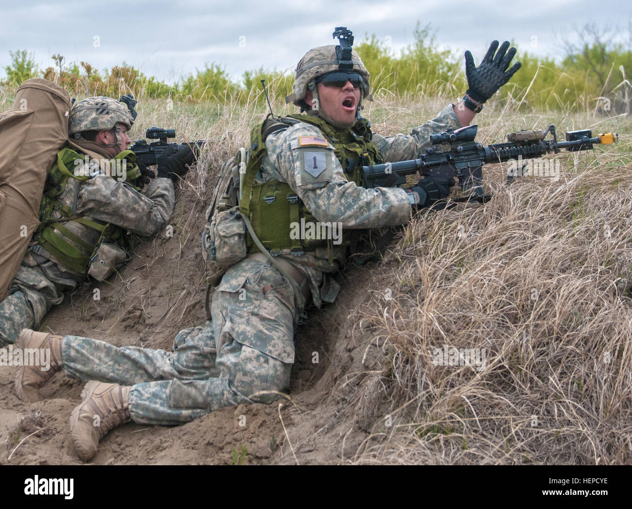
[[[213,295],[212,321],[180,331],[173,352],[65,336],[63,369],[83,380],[131,385],[142,424],[181,424],[222,407],[269,403],[286,391],[297,312],[288,281],[262,262],[231,267]]]

